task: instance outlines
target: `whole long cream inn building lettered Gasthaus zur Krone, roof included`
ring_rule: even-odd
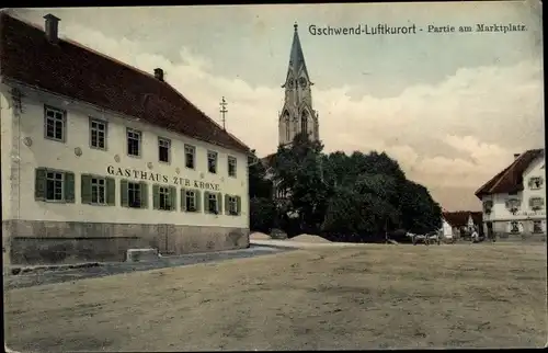
[[[163,80],[0,18],[4,263],[249,247],[249,148]]]

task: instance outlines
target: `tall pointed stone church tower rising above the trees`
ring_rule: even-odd
[[[289,66],[282,86],[285,89],[285,99],[278,121],[279,145],[290,144],[301,132],[306,132],[311,140],[320,139],[318,112],[312,109],[310,90],[313,83],[308,76],[296,23],[294,27]]]

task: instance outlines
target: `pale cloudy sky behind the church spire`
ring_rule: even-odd
[[[449,210],[514,152],[544,147],[539,2],[273,4],[13,10],[165,80],[262,157],[276,150],[293,24],[326,151],[386,151]],[[416,24],[415,35],[313,36],[310,25]],[[429,34],[429,24],[520,23],[526,32]]]

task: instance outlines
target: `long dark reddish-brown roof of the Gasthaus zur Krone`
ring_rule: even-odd
[[[49,43],[44,31],[0,14],[0,73],[107,111],[228,149],[250,149],[167,82],[71,41]]]

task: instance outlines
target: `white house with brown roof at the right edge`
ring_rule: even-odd
[[[545,150],[514,155],[514,161],[483,184],[483,230],[499,239],[546,241]]]

